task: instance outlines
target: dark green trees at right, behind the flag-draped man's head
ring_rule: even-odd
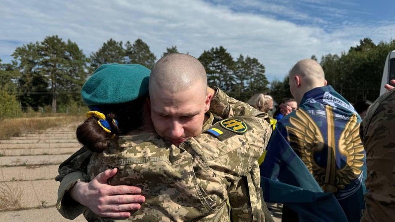
[[[389,52],[395,50],[395,40],[375,44],[372,39],[364,38],[359,45],[352,46],[340,55],[327,54],[319,61],[328,84],[348,101],[374,101],[379,97],[384,65]],[[317,61],[312,55],[311,59]],[[317,61],[318,62],[318,61]],[[271,82],[270,94],[277,101],[291,97],[289,77]]]

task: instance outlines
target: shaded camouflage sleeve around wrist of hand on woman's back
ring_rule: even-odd
[[[60,185],[56,208],[67,219],[75,219],[86,209],[83,205],[73,200],[68,191],[77,181],[86,181],[87,166],[91,154],[91,151],[83,147],[61,163],[58,168],[59,175],[56,176],[55,180],[60,181]]]

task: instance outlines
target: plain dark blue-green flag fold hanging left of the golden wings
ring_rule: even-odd
[[[322,191],[277,129],[260,169],[266,202],[285,204],[299,214],[300,222],[347,222],[333,194]]]

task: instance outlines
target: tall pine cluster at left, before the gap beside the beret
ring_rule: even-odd
[[[21,73],[17,81],[23,107],[37,110],[51,101],[52,112],[56,112],[58,101],[79,99],[87,59],[76,43],[48,36],[40,43],[16,48],[12,55],[15,70]]]

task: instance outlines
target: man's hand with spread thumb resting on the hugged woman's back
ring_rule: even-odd
[[[138,187],[108,185],[107,180],[117,171],[117,168],[108,169],[89,183],[78,181],[69,191],[71,197],[100,217],[130,217],[129,211],[140,209],[139,203],[143,203],[145,198],[138,195],[141,193]]]

